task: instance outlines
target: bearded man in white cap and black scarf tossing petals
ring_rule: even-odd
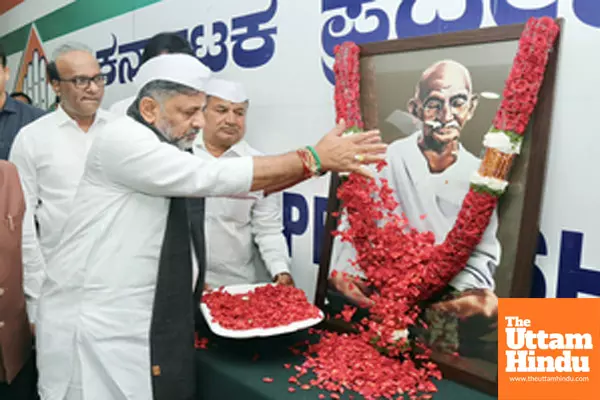
[[[182,151],[204,126],[209,70],[167,54],[139,74],[129,117],[105,126],[90,149],[48,263],[37,325],[44,400],[195,399],[199,243],[185,197],[271,192],[319,173],[303,149],[211,161]],[[378,132],[343,130],[314,147],[320,169],[366,173],[364,164],[383,158]]]

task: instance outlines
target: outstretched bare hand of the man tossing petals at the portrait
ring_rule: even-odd
[[[371,177],[366,164],[385,159],[387,144],[381,142],[378,130],[342,136],[346,124],[341,121],[315,146],[323,171],[357,172]]]

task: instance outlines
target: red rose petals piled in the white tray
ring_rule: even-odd
[[[321,316],[304,291],[284,285],[259,286],[241,294],[220,288],[204,294],[202,302],[210,309],[213,322],[233,330],[275,328]]]

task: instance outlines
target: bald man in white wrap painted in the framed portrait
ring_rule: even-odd
[[[469,190],[469,180],[481,162],[460,145],[460,133],[477,108],[472,86],[469,71],[456,61],[439,61],[428,67],[408,102],[408,111],[422,121],[423,129],[389,146],[388,166],[381,172],[399,202],[396,212],[404,213],[413,228],[433,232],[436,243],[443,242],[452,229]],[[423,215],[425,218],[421,218]],[[494,273],[501,253],[497,229],[494,213],[464,270],[450,282],[450,290],[468,297],[440,304],[440,309],[464,317],[491,316],[495,312]],[[337,237],[332,272],[352,273],[355,268],[348,260],[354,258],[350,244]],[[349,285],[342,274],[332,275],[330,281],[349,298],[368,303],[361,286]],[[471,298],[473,301],[469,301]]]

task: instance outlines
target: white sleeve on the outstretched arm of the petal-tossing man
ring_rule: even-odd
[[[91,162],[112,182],[165,197],[232,196],[250,191],[252,157],[204,161],[160,142],[145,128],[140,132],[133,121],[127,125],[138,131],[106,132],[95,142],[98,147]]]

